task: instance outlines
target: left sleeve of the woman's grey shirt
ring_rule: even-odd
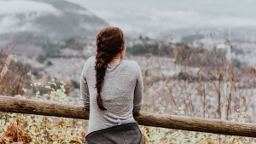
[[[84,68],[80,78],[80,98],[83,101],[84,108],[90,110],[90,95],[86,75],[90,66],[91,58],[86,60]]]

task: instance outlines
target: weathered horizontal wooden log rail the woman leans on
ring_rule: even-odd
[[[64,118],[88,119],[89,112],[82,106],[20,99],[0,95],[0,111],[37,114]],[[256,124],[236,123],[210,118],[191,118],[175,115],[150,114],[141,112],[135,116],[138,124],[154,127],[207,132],[221,135],[256,137]]]

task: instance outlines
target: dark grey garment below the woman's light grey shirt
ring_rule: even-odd
[[[97,130],[85,136],[85,144],[144,144],[137,123],[121,124]]]

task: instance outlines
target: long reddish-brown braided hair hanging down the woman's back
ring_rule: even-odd
[[[102,85],[108,63],[125,49],[124,33],[118,27],[107,27],[102,29],[96,36],[96,101],[98,107],[107,110],[102,105]]]

